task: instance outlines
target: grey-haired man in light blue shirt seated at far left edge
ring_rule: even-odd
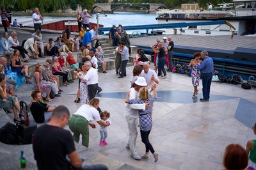
[[[12,58],[13,56],[13,51],[9,47],[8,43],[8,33],[4,32],[3,37],[0,40],[0,55],[5,55],[8,59]]]

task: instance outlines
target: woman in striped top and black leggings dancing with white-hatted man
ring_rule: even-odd
[[[129,95],[125,98],[125,102],[128,104],[143,104],[143,103],[149,103],[152,105],[152,103],[156,100],[157,93],[156,93],[156,88],[154,89],[154,97],[149,97],[149,92],[146,87],[140,88],[139,90],[139,99],[129,99]],[[159,154],[156,153],[154,150],[152,144],[150,144],[148,135],[150,134],[150,131],[152,129],[152,118],[149,115],[149,107],[146,108],[144,111],[139,110],[139,116],[140,116],[140,135],[141,135],[141,141],[145,144],[146,146],[146,152],[145,155],[142,156],[142,158],[145,158],[148,160],[149,158],[149,151],[153,154],[154,156],[154,162],[156,163],[158,161],[158,156]]]

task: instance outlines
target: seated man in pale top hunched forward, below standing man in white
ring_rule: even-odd
[[[36,45],[36,41],[38,40],[39,37],[35,36],[34,38],[28,38],[28,40],[26,40],[24,43],[24,49],[26,49],[31,56],[34,55],[34,59],[38,59],[39,52]]]

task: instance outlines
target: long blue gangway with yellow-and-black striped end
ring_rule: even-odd
[[[123,29],[127,30],[140,30],[146,29],[148,35],[148,29],[163,29],[163,28],[179,28],[179,27],[188,27],[188,26],[207,26],[207,25],[220,25],[227,24],[230,28],[236,30],[236,27],[232,26],[227,20],[215,20],[207,22],[177,22],[177,23],[168,23],[168,24],[150,24],[150,25],[140,25],[140,26],[124,26]],[[99,35],[102,35],[104,31],[110,31],[112,27],[100,27],[98,29]]]

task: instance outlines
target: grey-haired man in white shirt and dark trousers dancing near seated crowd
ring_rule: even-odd
[[[95,68],[92,67],[92,63],[90,61],[85,62],[85,68],[87,73],[83,78],[83,81],[86,81],[88,87],[88,95],[90,100],[95,98],[95,95],[98,90],[98,72]],[[78,74],[79,72],[74,72]]]

